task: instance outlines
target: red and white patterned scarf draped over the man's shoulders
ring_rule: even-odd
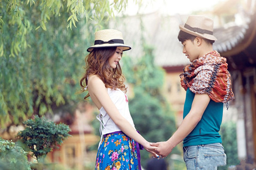
[[[225,103],[234,99],[226,58],[212,51],[183,68],[181,86],[193,93],[208,94],[215,102]]]

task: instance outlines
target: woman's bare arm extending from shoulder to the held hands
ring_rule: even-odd
[[[114,121],[114,123],[121,129],[123,133],[142,144],[147,150],[154,150],[148,141],[146,141],[134,127],[119,113],[115,104],[112,102],[108,92],[106,91],[104,83],[97,77],[91,76],[88,83],[88,90],[90,95],[97,98],[99,103]]]

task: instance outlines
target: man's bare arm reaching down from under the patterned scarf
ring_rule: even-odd
[[[152,143],[154,146],[158,146],[156,153],[165,157],[172,152],[176,147],[201,120],[203,113],[210,102],[210,98],[207,94],[195,94],[191,109],[186,117],[182,120],[181,125],[177,131],[165,142]]]

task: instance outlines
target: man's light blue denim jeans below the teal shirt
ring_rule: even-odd
[[[183,158],[187,170],[215,170],[226,165],[226,154],[221,143],[183,147]]]

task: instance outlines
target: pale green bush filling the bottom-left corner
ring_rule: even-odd
[[[29,170],[27,152],[10,140],[0,137],[0,169]]]

